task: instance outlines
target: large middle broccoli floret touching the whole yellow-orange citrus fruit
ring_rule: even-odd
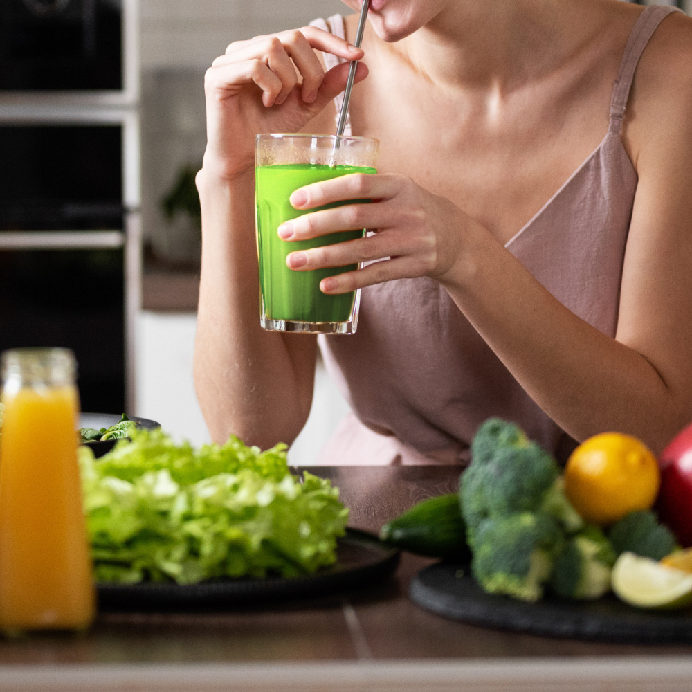
[[[467,540],[473,547],[476,527],[486,518],[518,512],[546,512],[572,533],[584,525],[567,500],[554,459],[536,442],[495,449],[482,463],[471,462],[460,489]]]

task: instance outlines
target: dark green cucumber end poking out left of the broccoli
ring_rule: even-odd
[[[470,555],[456,493],[419,502],[385,524],[380,540],[426,557],[461,559]]]

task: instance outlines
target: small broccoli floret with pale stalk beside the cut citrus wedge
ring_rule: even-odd
[[[551,586],[569,599],[599,599],[610,591],[615,552],[599,527],[588,526],[570,538],[555,558]]]

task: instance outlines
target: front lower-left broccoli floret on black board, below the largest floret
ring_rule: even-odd
[[[471,569],[487,592],[538,601],[562,546],[563,533],[547,514],[486,519],[475,533]]]

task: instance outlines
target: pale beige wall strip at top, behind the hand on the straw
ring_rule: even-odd
[[[206,67],[230,42],[350,14],[340,0],[140,0],[143,69]]]

